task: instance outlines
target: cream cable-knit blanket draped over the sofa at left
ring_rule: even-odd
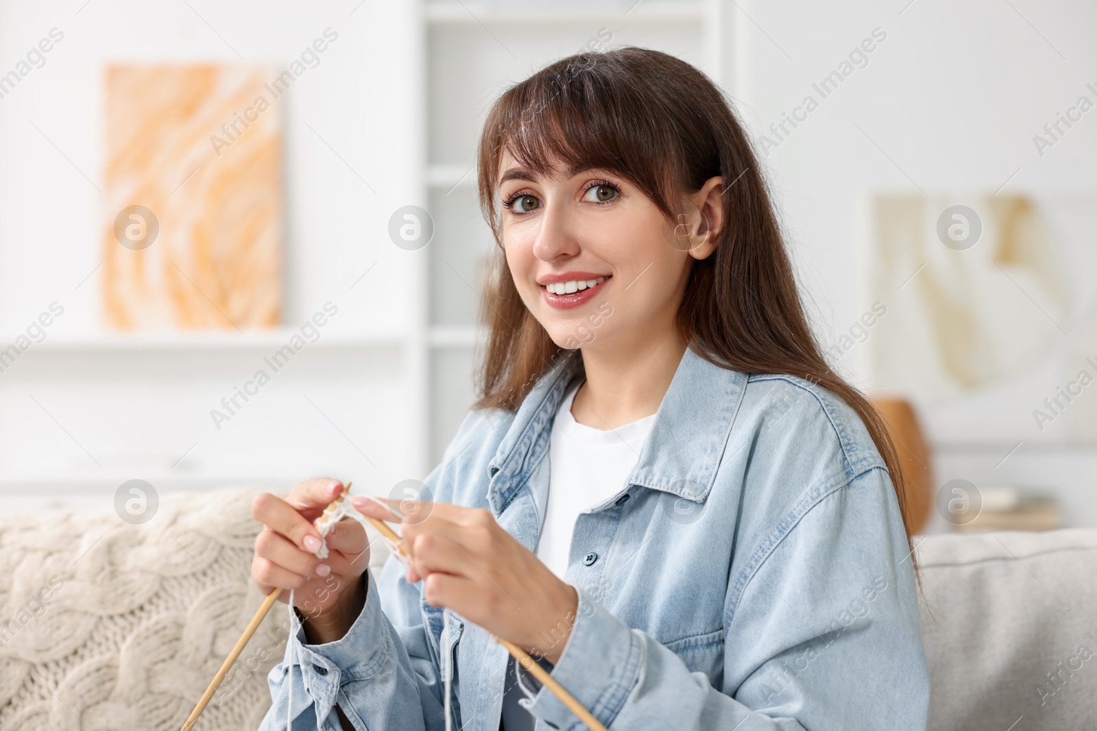
[[[165,494],[144,525],[0,516],[0,729],[179,731],[262,603],[257,492]],[[287,629],[278,603],[195,731],[259,726]]]

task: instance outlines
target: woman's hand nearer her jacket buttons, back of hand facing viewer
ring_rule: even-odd
[[[363,515],[399,516],[361,495]],[[556,664],[578,609],[578,594],[499,527],[486,510],[402,501],[414,518],[402,525],[409,583],[423,582],[431,606],[452,609],[487,631]],[[426,516],[426,517],[423,517]]]

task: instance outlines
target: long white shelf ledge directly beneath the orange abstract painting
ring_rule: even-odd
[[[271,350],[289,345],[294,335],[301,335],[296,328],[275,328],[271,330],[236,331],[196,331],[196,332],[142,332],[115,333],[104,332],[79,338],[47,338],[41,343],[34,343],[24,354],[73,354],[73,353],[156,353],[156,352],[190,352],[190,351],[251,351]],[[305,339],[306,349],[370,349],[399,346],[406,338],[398,331],[374,332],[362,334],[331,333],[320,336],[315,342]],[[4,342],[4,341],[0,341]],[[8,339],[7,342],[12,342]]]

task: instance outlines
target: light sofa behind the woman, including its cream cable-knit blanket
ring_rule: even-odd
[[[140,524],[110,504],[0,517],[0,729],[178,731],[263,599],[257,492],[165,494]],[[927,536],[916,556],[929,729],[1097,729],[1097,529]],[[258,727],[287,628],[276,604],[195,731]]]

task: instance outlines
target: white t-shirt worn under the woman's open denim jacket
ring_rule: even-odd
[[[655,423],[655,414],[600,430],[575,421],[572,401],[579,384],[561,400],[548,443],[548,504],[536,556],[561,579],[567,571],[575,519],[624,487]]]

